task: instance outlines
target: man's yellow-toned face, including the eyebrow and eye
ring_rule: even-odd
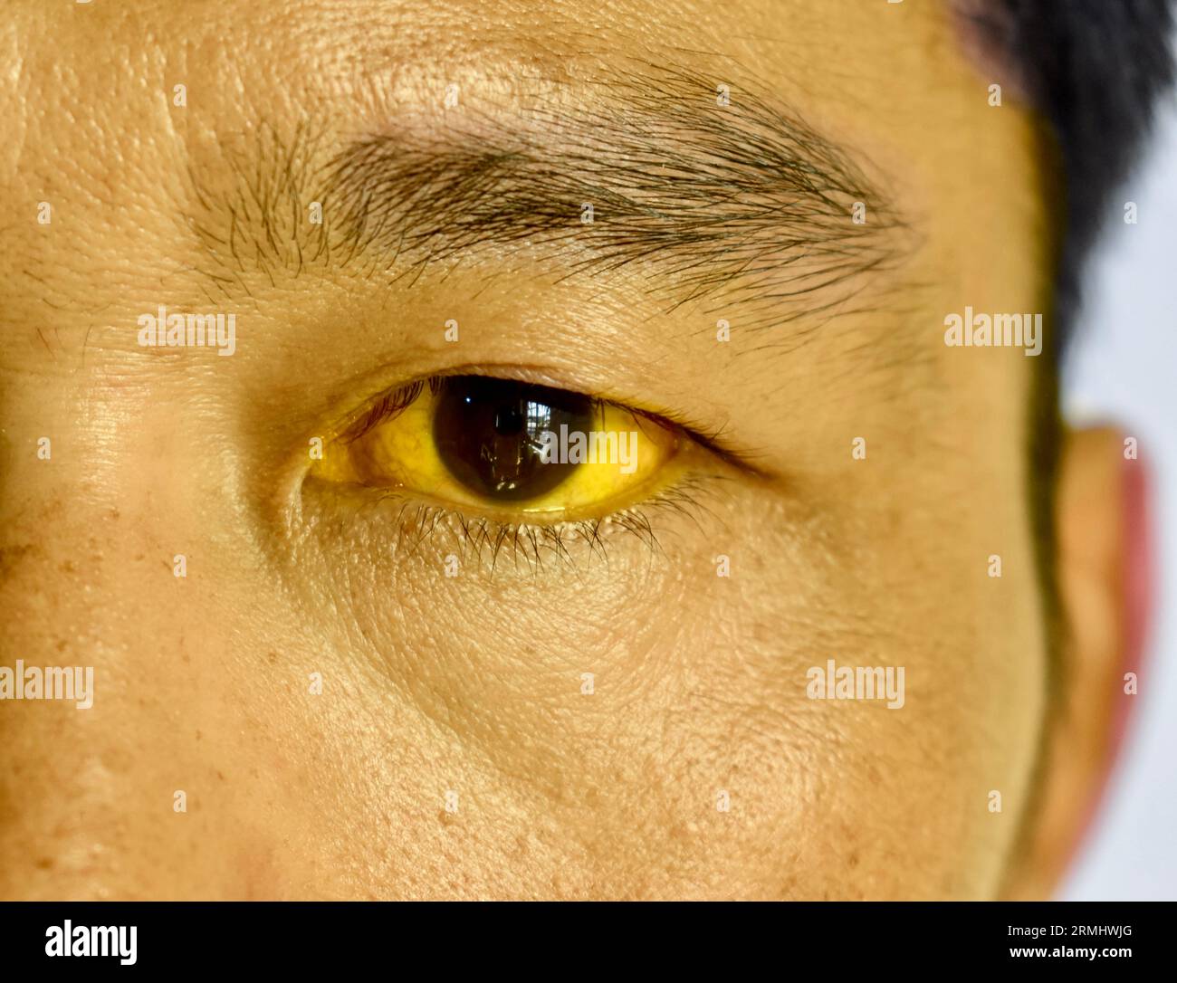
[[[93,684],[0,704],[0,895],[1046,889],[1049,356],[945,325],[1049,331],[1053,218],[940,5],[4,47],[0,662]]]

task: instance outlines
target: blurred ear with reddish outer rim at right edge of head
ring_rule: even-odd
[[[1148,483],[1117,430],[1069,431],[1056,497],[1063,671],[1042,799],[1006,895],[1049,897],[1089,830],[1137,697],[1151,567]],[[1131,675],[1129,675],[1131,673]]]

